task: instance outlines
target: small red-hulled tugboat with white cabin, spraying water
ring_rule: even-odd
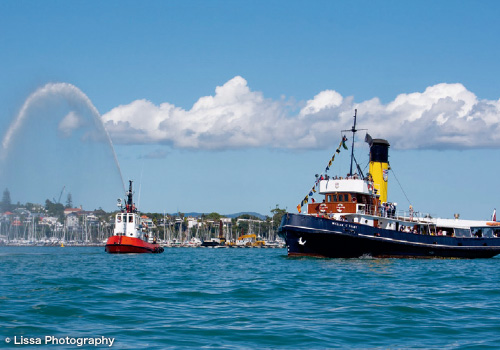
[[[108,238],[105,251],[111,254],[126,253],[163,253],[163,248],[156,243],[147,225],[141,223],[141,217],[132,200],[132,181],[129,181],[125,208],[118,200],[120,212],[115,217],[113,236]]]

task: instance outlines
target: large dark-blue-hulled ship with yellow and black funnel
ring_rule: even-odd
[[[356,132],[356,114],[354,135]],[[341,146],[347,149],[345,135]],[[346,177],[317,177],[313,190],[297,207],[299,214],[286,213],[279,227],[289,256],[327,258],[491,258],[500,254],[500,222],[433,218],[410,205],[397,210],[387,201],[389,142],[372,139],[369,173],[365,176],[351,149],[351,168]],[[335,157],[335,155],[334,155]],[[332,160],[326,170],[329,169]],[[353,160],[357,171],[353,174]],[[326,171],[325,171],[326,173]],[[316,192],[322,202],[308,203]],[[301,207],[307,205],[307,213]],[[494,215],[495,216],[495,215]]]

